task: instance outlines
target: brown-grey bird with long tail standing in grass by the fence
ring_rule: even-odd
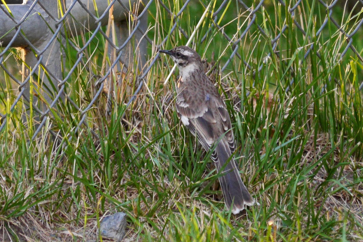
[[[179,69],[176,83],[176,111],[181,122],[196,136],[201,146],[212,152],[227,209],[238,214],[254,200],[243,184],[232,157],[236,146],[231,118],[218,90],[205,74],[199,54],[188,46],[159,50],[169,55]],[[221,171],[222,170],[222,171]]]

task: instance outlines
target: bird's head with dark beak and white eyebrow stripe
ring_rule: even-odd
[[[171,56],[172,60],[178,65],[180,75],[189,75],[195,70],[203,70],[203,63],[199,54],[188,46],[178,46],[171,50],[159,50]]]

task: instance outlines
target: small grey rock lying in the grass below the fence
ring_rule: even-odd
[[[100,224],[101,236],[114,241],[121,241],[125,236],[126,214],[115,213],[104,217]]]

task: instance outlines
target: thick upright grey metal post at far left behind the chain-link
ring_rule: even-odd
[[[53,102],[58,83],[62,80],[62,39],[60,29],[58,34],[56,21],[58,18],[57,0],[39,0],[36,10],[48,23],[45,34],[38,41],[33,42],[33,51],[23,48],[23,83],[25,83],[25,96],[30,98],[30,86],[32,86],[33,103],[36,103],[40,111],[45,111]],[[56,38],[55,36],[56,35]],[[32,74],[30,76],[30,74]]]

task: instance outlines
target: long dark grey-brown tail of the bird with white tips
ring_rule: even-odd
[[[232,213],[237,214],[244,209],[245,204],[248,206],[253,205],[254,200],[242,182],[234,159],[231,158],[228,161],[229,157],[231,157],[231,151],[227,142],[222,139],[219,141],[214,154],[212,154],[212,159],[215,161],[217,171],[225,166],[223,169],[225,175],[219,177],[219,183],[221,184],[227,208],[229,209],[232,206]],[[225,165],[227,161],[228,164]]]

